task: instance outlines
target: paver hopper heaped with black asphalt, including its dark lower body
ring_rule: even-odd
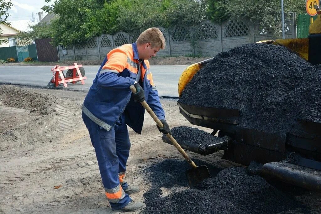
[[[321,161],[320,73],[321,65],[285,47],[242,45],[195,73],[179,111],[191,124],[232,139],[223,158],[233,162],[278,162],[291,152]]]

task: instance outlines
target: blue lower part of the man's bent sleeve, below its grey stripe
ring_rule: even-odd
[[[97,85],[110,89],[129,90],[129,86],[134,85],[135,80],[130,77],[118,76],[116,73],[100,73],[97,77]]]

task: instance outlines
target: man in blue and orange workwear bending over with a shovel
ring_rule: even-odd
[[[127,184],[124,176],[130,140],[127,125],[142,132],[146,101],[160,119],[160,132],[170,133],[165,112],[153,82],[148,59],[165,48],[165,38],[158,28],[149,28],[133,44],[111,50],[94,79],[82,105],[82,119],[95,148],[106,197],[112,210],[135,211],[145,208],[130,194],[138,186]],[[129,87],[134,85],[137,93]],[[126,125],[127,124],[127,125]]]

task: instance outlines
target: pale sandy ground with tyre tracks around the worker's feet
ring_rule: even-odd
[[[82,123],[80,106],[86,93],[13,86],[2,86],[1,90],[0,213],[112,212]],[[47,102],[52,105],[46,106]],[[176,100],[161,99],[161,103],[171,127],[190,125],[179,113]],[[126,180],[142,188],[132,198],[143,201],[150,185],[143,178],[142,167],[181,156],[162,142],[149,115],[145,116],[142,135],[129,130],[132,146]],[[219,167],[237,165],[221,159],[222,152],[206,157],[188,154]]]

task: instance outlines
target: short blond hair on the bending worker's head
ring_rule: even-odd
[[[138,45],[151,43],[152,47],[164,49],[166,42],[163,33],[158,28],[149,28],[141,33],[136,41]]]

